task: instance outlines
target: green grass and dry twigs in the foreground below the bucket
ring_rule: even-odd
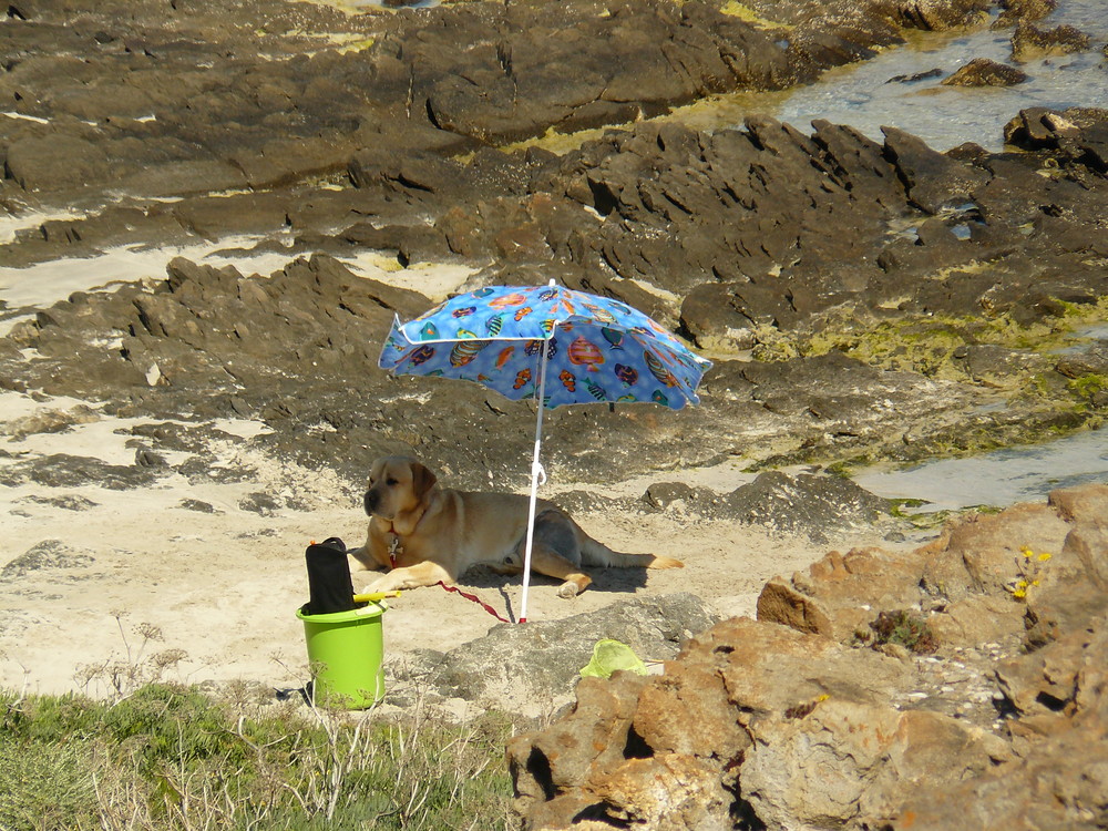
[[[243,687],[0,691],[0,829],[504,829],[511,726],[330,712]]]

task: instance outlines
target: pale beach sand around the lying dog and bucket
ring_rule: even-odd
[[[50,411],[82,413],[86,423],[23,434]],[[51,453],[132,464],[134,449],[124,447],[131,438],[125,433],[141,420],[109,418],[70,399],[38,401],[6,392],[0,394],[0,422],[6,437],[0,448],[8,454],[0,465],[9,466]],[[265,430],[248,421],[220,421],[216,427],[244,440]],[[189,481],[174,473],[140,490],[21,484],[0,491],[0,514],[6,517],[0,685],[34,693],[111,695],[112,674],[105,666],[148,665],[145,659],[157,654],[181,657],[165,671],[175,681],[246,680],[275,689],[305,684],[304,634],[295,617],[307,601],[304,551],[311,541],[335,535],[351,547],[362,542],[360,486],[339,481],[330,471],[267,459],[248,441],[227,440],[215,450],[225,465],[247,465],[256,474],[234,484]],[[167,461],[178,463],[184,455],[171,454]],[[748,478],[738,465],[724,465],[616,483],[605,493],[638,495],[650,481],[675,479],[728,490]],[[542,493],[556,497],[558,490],[572,486],[551,483]],[[263,516],[239,506],[257,492],[295,496],[306,510]],[[184,507],[186,500],[207,503],[213,511]],[[802,568],[828,550],[770,530],[698,521],[674,511],[586,513],[579,520],[613,547],[677,557],[686,567],[648,572],[645,586],[612,570],[598,574],[597,585],[572,601],[556,596],[555,582],[536,576],[529,596],[531,620],[676,592],[699,595],[720,615],[750,615],[768,578]],[[844,542],[876,541],[862,535]],[[372,575],[355,576],[360,588]],[[517,616],[519,578],[476,571],[462,583],[502,616]],[[407,592],[391,602],[384,616],[387,660],[402,659],[412,649],[454,648],[496,623],[479,605],[440,587]]]

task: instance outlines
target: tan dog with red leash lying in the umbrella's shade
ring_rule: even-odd
[[[369,537],[350,552],[351,568],[391,567],[366,592],[433,586],[439,581],[450,585],[479,564],[504,573],[523,571],[527,496],[439,488],[434,473],[414,459],[388,456],[373,462],[365,504]],[[582,572],[586,565],[680,568],[684,563],[612,551],[560,507],[538,500],[532,571],[565,581],[558,596],[574,597],[593,582]]]

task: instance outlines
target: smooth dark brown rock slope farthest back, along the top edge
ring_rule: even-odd
[[[13,4],[0,145],[30,202],[304,183],[378,148],[453,153],[782,89],[983,3]],[[62,160],[62,163],[58,163]],[[239,229],[240,230],[240,229]]]

